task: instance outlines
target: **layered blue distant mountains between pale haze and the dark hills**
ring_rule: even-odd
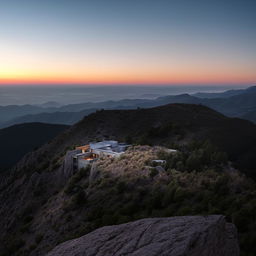
[[[201,104],[230,117],[239,117],[256,122],[256,86],[252,86],[247,89],[229,90],[222,93],[168,95],[156,99],[123,99],[64,106],[58,106],[55,102],[37,106],[0,106],[0,127],[28,122],[70,125],[100,109],[150,108],[170,103]]]

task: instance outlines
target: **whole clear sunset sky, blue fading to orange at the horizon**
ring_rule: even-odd
[[[255,0],[0,0],[0,84],[252,84]]]

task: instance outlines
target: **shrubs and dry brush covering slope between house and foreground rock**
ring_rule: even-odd
[[[44,194],[49,185],[34,176],[37,186],[16,212],[15,232],[5,236],[2,255],[44,255],[98,227],[146,217],[208,214],[224,214],[235,223],[242,255],[253,255],[255,183],[208,143],[189,148],[168,153],[161,147],[132,147],[118,159],[102,158],[74,173],[50,197]],[[204,161],[192,160],[198,151]],[[159,158],[166,164],[152,162]]]

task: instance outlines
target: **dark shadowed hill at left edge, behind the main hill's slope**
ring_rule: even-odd
[[[42,146],[67,129],[66,125],[29,123],[0,130],[0,168],[14,165],[29,151]]]

